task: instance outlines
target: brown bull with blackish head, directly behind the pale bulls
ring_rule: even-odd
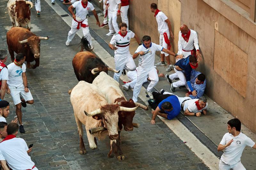
[[[88,83],[92,83],[94,78],[96,78],[101,71],[104,71],[107,74],[108,70],[116,73],[119,72],[107,67],[100,58],[88,51],[77,53],[73,58],[72,65],[77,80],[84,80]]]

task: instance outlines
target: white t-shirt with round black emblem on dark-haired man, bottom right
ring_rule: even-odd
[[[236,137],[234,137],[231,133],[226,133],[220,141],[220,144],[225,145],[231,139],[234,141],[224,150],[224,153],[220,158],[220,160],[228,165],[234,165],[240,161],[245,146],[252,147],[255,144],[251,138],[247,137],[242,132],[240,132],[240,134]]]

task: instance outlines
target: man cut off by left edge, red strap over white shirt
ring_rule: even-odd
[[[6,85],[8,80],[7,66],[4,64],[7,60],[7,50],[0,49],[0,100],[4,100]]]

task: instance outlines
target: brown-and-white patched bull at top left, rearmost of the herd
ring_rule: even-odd
[[[30,8],[29,8],[30,5]],[[25,0],[9,0],[7,11],[10,16],[12,26],[28,27],[30,31],[31,13],[33,3]]]

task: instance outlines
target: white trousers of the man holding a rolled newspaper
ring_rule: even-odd
[[[151,80],[149,85],[148,85],[148,88],[147,88],[148,92],[151,92],[151,90],[158,83],[158,75],[157,75],[157,71],[156,71],[155,67],[153,67],[149,70],[144,70],[142,67],[139,66],[138,69],[137,69],[137,82],[136,82],[136,84],[133,88],[132,100],[134,102],[138,101],[138,96],[139,96],[139,93],[140,93],[141,86],[142,86],[145,78],[147,78],[147,76]]]

